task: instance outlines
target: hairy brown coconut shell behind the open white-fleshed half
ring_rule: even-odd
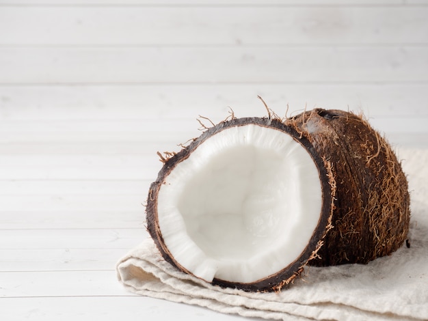
[[[409,229],[410,197],[387,141],[346,111],[314,109],[288,123],[331,163],[336,178],[334,228],[310,264],[368,263],[399,249]]]

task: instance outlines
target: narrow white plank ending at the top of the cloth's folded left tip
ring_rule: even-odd
[[[1,272],[113,270],[123,249],[0,249]]]

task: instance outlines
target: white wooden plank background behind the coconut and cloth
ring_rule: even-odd
[[[156,152],[198,115],[265,115],[257,95],[427,148],[428,1],[0,0],[1,320],[217,320],[114,265],[146,237]]]

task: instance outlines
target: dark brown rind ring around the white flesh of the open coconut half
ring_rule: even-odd
[[[295,141],[299,142],[308,151],[313,161],[315,162],[315,165],[317,166],[321,182],[323,201],[322,208],[320,209],[319,222],[312,234],[310,242],[308,242],[308,245],[304,251],[299,255],[299,257],[296,257],[293,263],[284,267],[284,269],[278,271],[278,273],[269,275],[264,279],[260,279],[252,283],[233,283],[224,281],[222,279],[214,279],[212,283],[222,287],[239,288],[245,291],[279,291],[282,288],[286,288],[295,279],[295,277],[300,275],[304,270],[304,266],[306,266],[310,260],[314,260],[318,257],[317,253],[323,247],[323,239],[328,230],[332,228],[332,213],[335,199],[334,193],[336,192],[336,182],[334,181],[330,162],[319,156],[317,150],[315,150],[315,148],[313,148],[312,144],[310,143],[310,140],[308,140],[306,137],[302,137],[300,132],[296,130],[295,126],[286,125],[280,120],[276,119],[248,117],[238,119],[235,118],[227,122],[222,122],[206,130],[190,145],[188,145],[186,148],[183,148],[183,150],[172,156],[172,158],[168,159],[168,161],[165,161],[161,171],[159,171],[157,180],[150,185],[146,206],[147,228],[163,258],[173,266],[176,266],[176,268],[179,268],[185,273],[191,274],[183,266],[180,266],[179,262],[174,260],[173,255],[170,253],[168,247],[166,247],[165,242],[163,241],[161,229],[157,219],[157,195],[159,193],[159,189],[174,167],[176,167],[178,163],[185,161],[191,152],[198,148],[198,146],[206,139],[212,135],[217,134],[217,132],[225,130],[226,128],[233,126],[245,126],[248,124],[275,128],[285,132],[286,134],[291,135]]]

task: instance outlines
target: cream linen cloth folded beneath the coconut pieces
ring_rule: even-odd
[[[428,150],[402,150],[410,184],[408,239],[369,264],[306,267],[302,279],[280,293],[220,288],[165,262],[148,238],[118,262],[131,292],[270,320],[428,320]]]

